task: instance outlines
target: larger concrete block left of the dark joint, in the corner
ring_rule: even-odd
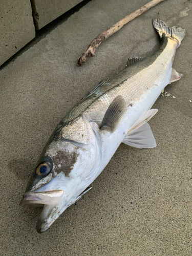
[[[0,66],[35,37],[30,0],[0,1]]]

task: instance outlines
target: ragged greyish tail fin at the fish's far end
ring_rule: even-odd
[[[155,30],[158,32],[159,36],[165,36],[176,38],[179,42],[178,47],[181,45],[181,41],[185,36],[185,30],[179,27],[168,27],[161,19],[155,18],[153,19],[153,26]]]

